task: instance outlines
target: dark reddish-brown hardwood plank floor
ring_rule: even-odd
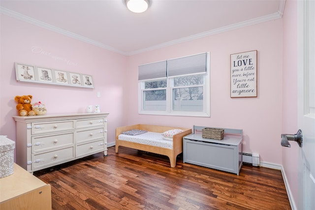
[[[290,210],[281,171],[240,175],[120,147],[34,172],[51,184],[53,210]]]

